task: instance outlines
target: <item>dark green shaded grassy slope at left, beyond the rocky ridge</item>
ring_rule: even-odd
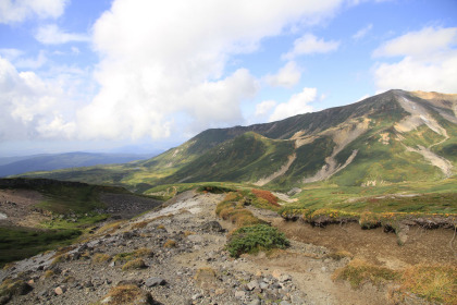
[[[72,215],[55,217],[42,222],[39,228],[0,228],[0,266],[11,260],[22,259],[40,252],[70,244],[83,234],[86,228],[94,225],[108,216],[95,211],[103,208],[100,194],[127,193],[119,187],[89,185],[84,183],[60,183],[57,181],[38,180],[36,183],[23,183],[18,180],[15,185],[2,188],[27,188],[39,192],[45,199],[37,204],[37,208],[53,215]],[[26,180],[26,182],[29,180]],[[74,220],[74,221],[73,221]],[[7,251],[8,249],[8,251]]]

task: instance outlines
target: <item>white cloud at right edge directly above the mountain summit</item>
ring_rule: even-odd
[[[457,27],[425,27],[386,41],[373,51],[373,57],[402,59],[374,65],[378,90],[457,93],[456,46]]]

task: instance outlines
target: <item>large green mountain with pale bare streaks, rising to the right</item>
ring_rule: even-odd
[[[202,181],[281,190],[437,181],[455,174],[456,113],[457,95],[390,90],[279,122],[207,130],[148,160],[38,175],[135,190]]]

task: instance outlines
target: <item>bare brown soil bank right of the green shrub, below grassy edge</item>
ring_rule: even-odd
[[[354,222],[325,228],[279,218],[272,222],[292,240],[333,251],[347,251],[355,257],[388,268],[416,264],[457,264],[457,241],[453,240],[454,231],[449,229],[411,227],[407,241],[400,246],[395,233],[385,233],[382,228],[362,230]]]

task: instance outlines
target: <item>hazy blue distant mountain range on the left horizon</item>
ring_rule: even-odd
[[[0,158],[0,176],[15,175],[26,172],[52,171],[59,169],[92,167],[111,163],[126,163],[144,160],[157,154],[95,154],[66,152],[57,155],[35,155]]]

